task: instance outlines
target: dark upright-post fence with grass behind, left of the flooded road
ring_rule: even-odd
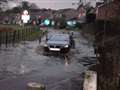
[[[29,41],[39,38],[43,33],[39,30],[35,30],[34,28],[23,28],[18,30],[0,30],[0,47],[5,45],[14,46],[15,43],[20,41]]]

